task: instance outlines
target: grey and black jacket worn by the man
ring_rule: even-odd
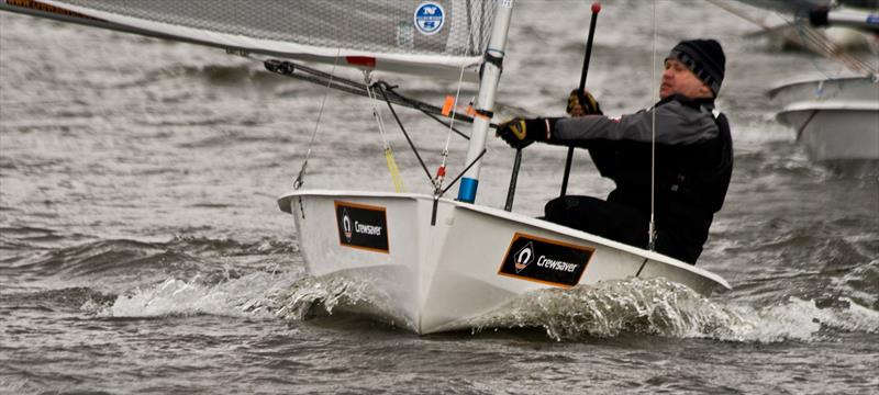
[[[558,119],[546,143],[588,148],[603,177],[616,183],[609,202],[650,213],[652,125],[656,115],[657,242],[672,242],[694,262],[721,210],[733,168],[726,116],[711,99],[672,95],[654,108],[619,119]]]

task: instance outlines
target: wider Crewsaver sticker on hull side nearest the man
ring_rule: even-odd
[[[580,282],[594,251],[592,247],[516,233],[498,274],[567,289]]]

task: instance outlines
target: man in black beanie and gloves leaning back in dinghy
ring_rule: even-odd
[[[665,59],[660,100],[653,108],[608,117],[588,91],[575,90],[571,117],[513,119],[498,136],[514,148],[533,142],[587,148],[601,176],[615,182],[607,200],[549,201],[546,221],[647,248],[653,200],[655,250],[696,264],[733,169],[730,124],[714,108],[725,64],[716,41],[682,41]]]

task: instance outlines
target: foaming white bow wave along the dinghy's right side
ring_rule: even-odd
[[[841,300],[844,303],[831,308],[797,297],[756,308],[709,300],[663,279],[631,279],[534,292],[472,324],[476,331],[543,327],[547,336],[559,341],[635,332],[778,342],[819,340],[825,329],[879,332],[879,312],[850,298]]]

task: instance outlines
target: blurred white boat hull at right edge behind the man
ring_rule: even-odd
[[[879,160],[879,80],[797,80],[768,94],[781,106],[777,120],[795,131],[797,140],[813,160]]]

